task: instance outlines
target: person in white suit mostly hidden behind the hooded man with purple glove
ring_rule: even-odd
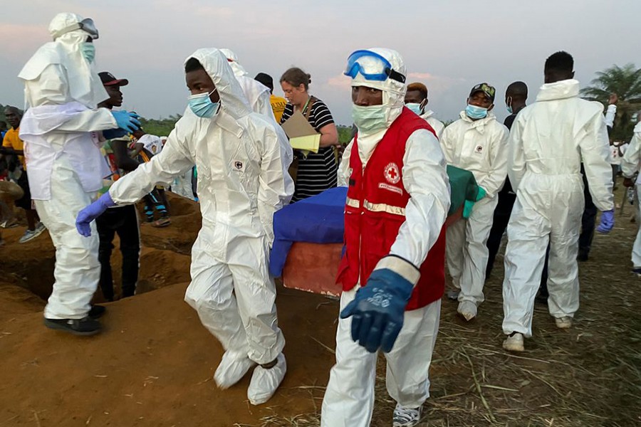
[[[229,62],[229,66],[231,66],[231,70],[234,70],[236,80],[240,83],[241,89],[249,101],[251,110],[273,120],[276,125],[276,132],[278,132],[278,142],[281,143],[281,156],[283,156],[283,161],[291,164],[293,161],[293,151],[285,131],[281,128],[281,125],[278,125],[276,118],[273,116],[273,110],[271,108],[271,90],[266,85],[249,77],[245,68],[238,62],[238,56],[236,56],[236,53],[226,48],[222,48],[220,51],[225,58],[227,58],[227,62]],[[286,174],[285,180],[287,193],[289,194],[290,191],[293,193],[294,182],[289,173]],[[287,203],[289,203],[289,201],[283,201],[283,204]]]

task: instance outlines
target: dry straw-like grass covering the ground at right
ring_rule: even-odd
[[[526,339],[523,354],[501,349],[500,255],[477,320],[459,320],[456,304],[443,302],[430,371],[432,396],[420,426],[641,425],[641,280],[629,273],[637,229],[629,222],[630,211],[628,206],[625,217],[617,211],[613,233],[595,236],[590,260],[580,264],[581,307],[573,327],[558,330],[547,307],[537,305],[533,337]],[[301,392],[311,393],[314,413],[292,418],[274,413],[259,426],[318,426],[323,389]],[[380,358],[372,427],[391,426],[394,406]]]

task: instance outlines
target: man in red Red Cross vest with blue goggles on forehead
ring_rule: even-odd
[[[345,75],[358,133],[338,178],[348,185],[343,295],[321,426],[370,425],[379,348],[397,401],[393,425],[416,426],[444,290],[445,158],[432,127],[403,107],[406,71],[397,52],[355,51]]]

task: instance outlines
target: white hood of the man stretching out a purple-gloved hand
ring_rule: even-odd
[[[212,78],[218,90],[221,112],[219,112],[216,120],[221,126],[231,126],[231,123],[227,123],[227,121],[224,120],[225,114],[237,120],[251,112],[249,102],[246,100],[243,90],[238,80],[236,80],[233,70],[231,70],[230,63],[227,62],[227,58],[222,51],[216,48],[202,48],[187,57],[185,62],[187,62],[189,58],[198,60],[209,77]],[[187,110],[189,110],[189,108],[187,108]],[[194,115],[193,113],[191,114]],[[196,116],[194,115],[194,117]],[[230,132],[236,133],[236,130],[232,129],[235,129],[235,127],[231,127],[229,130]]]

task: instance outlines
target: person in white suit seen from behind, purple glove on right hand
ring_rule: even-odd
[[[557,52],[546,60],[536,102],[518,113],[510,136],[509,178],[516,203],[507,228],[503,283],[504,349],[523,351],[532,336],[534,297],[550,245],[548,309],[568,328],[579,306],[578,237],[583,214],[581,161],[600,231],[614,226],[610,144],[603,105],[578,97],[574,60]],[[607,220],[607,221],[605,221]]]

